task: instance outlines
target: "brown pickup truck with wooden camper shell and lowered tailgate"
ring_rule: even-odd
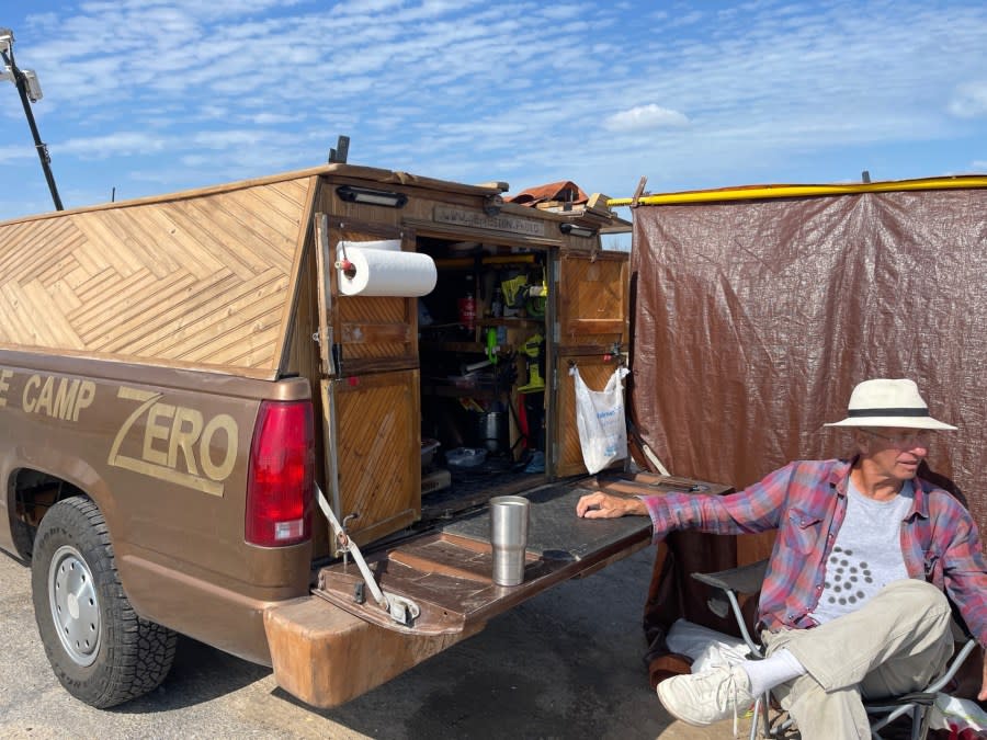
[[[504,190],[337,163],[0,224],[0,548],[70,693],[152,690],[181,633],[337,705],[648,542],[572,514],[670,485],[587,478],[576,431],[568,368],[626,357],[626,224]]]

